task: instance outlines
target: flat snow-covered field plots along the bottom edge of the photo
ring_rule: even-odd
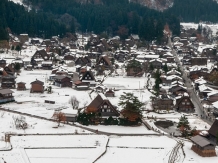
[[[7,163],[167,163],[177,141],[167,136],[13,136],[13,149],[1,151],[0,158]],[[191,145],[184,141],[185,157],[179,150],[177,162],[217,162],[217,157],[198,156]]]

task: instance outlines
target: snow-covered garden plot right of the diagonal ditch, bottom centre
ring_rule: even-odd
[[[97,163],[167,163],[176,141],[164,136],[111,137],[106,154]]]

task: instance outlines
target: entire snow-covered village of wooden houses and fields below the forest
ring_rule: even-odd
[[[131,35],[10,34],[0,60],[0,162],[217,162],[218,26],[165,45]],[[135,161],[137,160],[137,161]]]

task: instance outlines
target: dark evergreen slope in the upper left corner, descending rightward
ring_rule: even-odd
[[[28,33],[30,36],[63,35],[66,27],[44,13],[27,12],[23,6],[0,0],[0,40],[8,39],[7,31]]]

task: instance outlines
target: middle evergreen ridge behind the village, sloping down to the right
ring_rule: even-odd
[[[53,14],[59,21],[63,15],[74,17],[77,30],[82,32],[119,35],[126,38],[130,33],[139,34],[146,40],[160,39],[163,35],[163,27],[169,24],[174,34],[179,34],[179,21],[171,14],[163,14],[148,9],[128,0],[25,0],[36,8],[38,12]],[[93,3],[91,3],[93,2]]]

